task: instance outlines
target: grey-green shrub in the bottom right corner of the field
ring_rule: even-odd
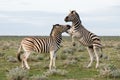
[[[117,69],[115,65],[112,64],[103,64],[100,67],[100,76],[120,78],[120,69]]]

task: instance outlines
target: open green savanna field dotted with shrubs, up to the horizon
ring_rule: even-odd
[[[63,37],[57,52],[57,69],[49,71],[49,53],[32,53],[28,59],[30,70],[21,69],[16,53],[24,37],[0,37],[0,80],[120,80],[120,37],[102,36],[103,57],[100,67],[86,68],[89,55],[85,47],[70,37]]]

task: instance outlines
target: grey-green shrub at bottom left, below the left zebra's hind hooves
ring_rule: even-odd
[[[28,80],[28,71],[22,68],[13,68],[7,73],[8,80]]]

